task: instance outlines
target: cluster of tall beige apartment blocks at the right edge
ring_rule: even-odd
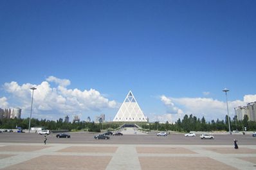
[[[242,121],[244,115],[248,115],[249,121],[256,121],[256,101],[248,103],[246,106],[238,106],[235,108],[237,120]]]

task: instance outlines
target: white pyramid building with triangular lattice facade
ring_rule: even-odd
[[[147,122],[147,118],[144,116],[131,90],[127,94],[113,121]]]

